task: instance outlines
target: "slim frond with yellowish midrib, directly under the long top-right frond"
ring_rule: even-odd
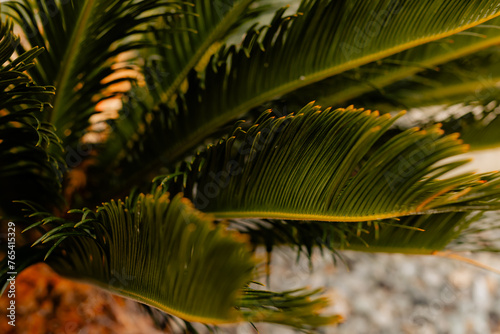
[[[384,88],[394,82],[424,71],[441,73],[442,64],[497,45],[500,42],[499,28],[500,19],[494,18],[458,34],[307,86],[290,94],[286,99],[304,104],[314,98],[321,105],[341,106],[343,103],[352,104],[354,101],[349,101],[358,98],[355,105],[365,107],[361,104],[367,103],[367,99],[362,97],[363,94],[379,91],[384,95]],[[405,102],[404,99],[401,101]]]

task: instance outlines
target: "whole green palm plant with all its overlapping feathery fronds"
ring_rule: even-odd
[[[500,208],[500,174],[450,174],[467,160],[448,158],[500,142],[498,1],[17,0],[2,12],[0,214],[17,233],[3,282],[45,261],[188,328],[309,331],[340,317],[319,291],[260,287],[257,247],[496,250],[467,237],[495,227],[482,216]],[[474,113],[415,121],[415,108],[458,103]]]

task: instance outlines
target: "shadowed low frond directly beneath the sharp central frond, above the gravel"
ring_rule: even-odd
[[[342,250],[430,255],[463,239],[462,233],[481,217],[480,212],[451,212],[355,224],[293,220],[242,220],[234,224],[254,245],[264,245],[268,252],[275,245],[292,245],[297,256],[304,253],[310,259],[314,249],[333,255]]]

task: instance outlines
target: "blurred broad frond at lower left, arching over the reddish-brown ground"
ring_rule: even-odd
[[[257,262],[245,238],[215,225],[181,195],[170,200],[156,191],[70,213],[81,214],[80,220],[49,216],[28,228],[53,225],[33,246],[50,245],[45,258],[64,276],[187,321],[288,322],[300,329],[338,321],[320,315],[325,301],[309,298],[315,291],[249,287]]]

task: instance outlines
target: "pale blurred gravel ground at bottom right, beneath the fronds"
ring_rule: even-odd
[[[474,259],[500,268],[500,255]],[[430,256],[345,252],[348,268],[315,257],[294,264],[287,252],[274,256],[279,286],[327,287],[330,311],[346,321],[331,334],[500,334],[500,275],[463,262]],[[261,326],[262,333],[293,333]],[[250,333],[241,328],[238,333]]]

